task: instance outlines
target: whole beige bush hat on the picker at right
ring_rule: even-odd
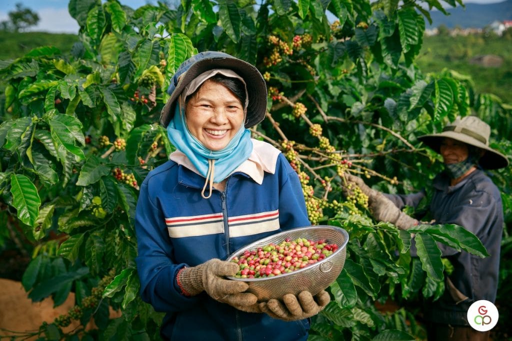
[[[418,140],[440,152],[444,138],[454,139],[485,150],[478,164],[485,169],[498,169],[508,166],[508,159],[502,153],[489,147],[490,126],[476,116],[457,117],[453,123],[447,124],[443,131],[418,137]]]

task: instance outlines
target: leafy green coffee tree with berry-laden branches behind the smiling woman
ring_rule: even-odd
[[[450,271],[436,242],[487,253],[459,226],[406,233],[374,222],[364,194],[343,197],[342,176],[352,172],[387,192],[421,189],[441,165],[416,137],[456,115],[476,113],[495,127],[502,142],[494,147],[512,150],[510,106],[476,94],[464,75],[425,75],[415,66],[425,8],[444,12],[437,0],[183,0],[136,10],[71,0],[80,31],[69,53],[40,47],[0,62],[0,229],[9,232],[2,236],[24,240],[32,253],[22,281],[32,300],[51,296],[59,305],[76,294],[73,309],[34,334],[158,339],[162,315],[138,296],[138,188],[174,150],[158,124],[170,77],[191,55],[219,50],[264,75],[267,118],[252,135],[286,155],[312,223],[350,234],[345,268],[329,288],[334,300],[315,316],[310,338],[422,337],[415,307],[439,297]],[[494,176],[507,226],[509,179],[507,170]],[[387,300],[401,306],[393,317],[377,308]],[[121,317],[109,319],[109,307]],[[62,331],[91,318],[97,329]]]

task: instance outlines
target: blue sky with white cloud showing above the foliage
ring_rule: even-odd
[[[466,0],[464,3],[490,4],[504,0]],[[145,4],[156,4],[157,0],[120,0],[121,4],[134,9]],[[39,15],[39,24],[31,28],[33,31],[77,33],[78,25],[68,12],[69,0],[0,0],[0,21],[7,20],[10,11],[16,8],[16,3],[30,8]]]

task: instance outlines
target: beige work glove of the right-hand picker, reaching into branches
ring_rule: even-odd
[[[368,196],[368,208],[376,220],[390,222],[401,230],[408,230],[418,224],[418,220],[403,213],[395,206],[393,201],[381,192],[368,187],[360,177],[345,173],[345,179],[346,184],[343,184],[342,179],[343,193],[346,196],[351,195],[353,186],[359,187],[361,192]]]

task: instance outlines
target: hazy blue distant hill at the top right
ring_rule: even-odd
[[[432,25],[427,21],[426,27],[434,28],[445,25],[448,28],[484,28],[495,20],[512,20],[512,0],[496,4],[465,4],[464,7],[447,8],[444,15],[439,11],[431,11]]]

